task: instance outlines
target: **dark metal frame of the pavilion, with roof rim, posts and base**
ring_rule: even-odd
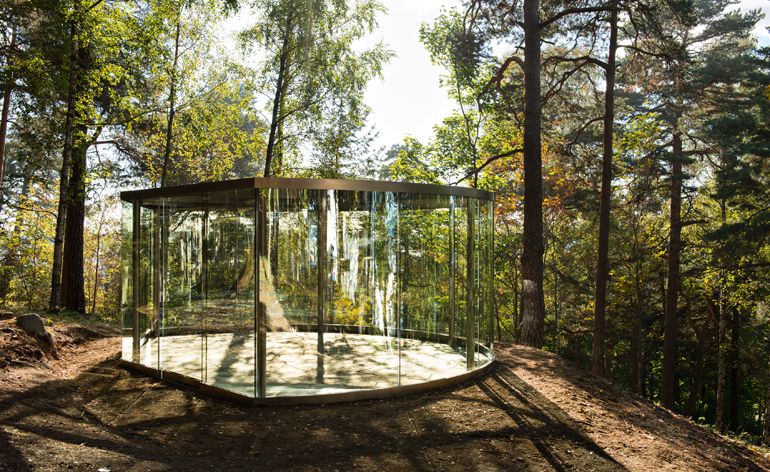
[[[318,313],[317,313],[317,332],[318,332],[318,371],[323,372],[323,356],[324,356],[324,342],[323,342],[323,333],[326,331],[325,328],[325,320],[326,320],[326,313],[325,313],[325,306],[324,303],[325,298],[327,296],[326,294],[326,285],[327,280],[326,277],[323,275],[325,274],[325,270],[323,268],[327,264],[327,254],[326,254],[326,211],[327,211],[327,191],[329,190],[340,190],[340,191],[355,191],[355,192],[377,192],[377,193],[393,193],[398,197],[400,195],[408,193],[408,194],[423,194],[423,195],[445,195],[452,197],[450,199],[450,245],[452,250],[450,251],[452,256],[450,260],[450,286],[449,291],[452,294],[452,297],[461,295],[457,293],[456,290],[456,281],[455,281],[455,274],[456,274],[456,256],[455,252],[453,250],[455,245],[455,230],[458,225],[463,224],[462,222],[456,221],[456,214],[455,214],[455,206],[456,206],[456,198],[457,197],[464,197],[469,198],[475,201],[470,202],[471,204],[468,205],[467,208],[467,232],[468,232],[468,241],[466,241],[466,251],[467,251],[467,267],[466,267],[466,290],[465,290],[465,297],[466,297],[466,316],[465,316],[465,326],[464,327],[458,327],[456,326],[456,312],[457,307],[455,304],[450,304],[449,310],[450,310],[450,319],[449,319],[449,334],[446,336],[446,343],[449,345],[454,345],[455,342],[459,342],[459,344],[463,345],[465,348],[465,355],[466,355],[466,368],[468,369],[467,372],[447,377],[447,378],[441,378],[437,380],[432,380],[428,382],[423,382],[419,384],[410,384],[410,385],[401,385],[401,375],[400,375],[400,368],[401,368],[401,358],[399,355],[399,375],[398,375],[398,384],[393,387],[386,387],[381,389],[361,389],[361,390],[354,390],[350,392],[344,392],[344,393],[334,393],[334,394],[315,394],[315,395],[305,395],[305,396],[290,396],[290,397],[267,397],[265,396],[266,393],[266,379],[265,379],[265,373],[266,373],[266,359],[264,356],[264,353],[266,351],[266,307],[264,303],[262,303],[259,300],[259,285],[260,285],[260,270],[259,270],[259,261],[262,257],[269,257],[269,254],[267,254],[266,251],[266,244],[267,241],[264,239],[264,234],[262,231],[262,226],[267,224],[267,215],[266,215],[266,198],[269,198],[264,192],[260,190],[267,190],[267,189],[290,189],[290,190],[315,190],[318,192],[318,225],[319,225],[319,237],[318,237],[318,245],[319,245],[319,251],[318,251],[318,257],[319,257],[319,270],[318,270]],[[437,388],[443,388],[450,385],[454,385],[457,383],[464,382],[466,380],[469,380],[471,378],[474,378],[478,375],[481,375],[483,373],[488,372],[490,369],[492,369],[494,365],[494,354],[491,350],[491,345],[487,348],[483,345],[481,342],[476,342],[475,337],[476,333],[476,327],[474,319],[474,303],[473,300],[475,298],[475,245],[476,245],[476,237],[475,234],[476,228],[475,226],[475,218],[477,216],[478,211],[478,205],[481,201],[485,202],[493,202],[494,201],[494,194],[491,192],[487,192],[484,190],[478,190],[478,189],[472,189],[472,188],[466,188],[466,187],[450,187],[450,186],[442,186],[442,185],[429,185],[429,184],[415,184],[415,183],[404,183],[404,182],[383,182],[383,181],[368,181],[368,180],[338,180],[338,179],[290,179],[290,178],[262,178],[262,177],[254,177],[254,178],[246,178],[246,179],[238,179],[238,180],[229,180],[229,181],[222,181],[222,182],[205,182],[205,183],[199,183],[199,184],[192,184],[192,185],[181,185],[181,186],[175,186],[175,187],[166,187],[166,188],[155,188],[155,189],[144,189],[144,190],[133,190],[133,191],[126,191],[121,192],[120,197],[122,200],[131,202],[133,205],[132,208],[132,214],[133,214],[133,235],[132,235],[132,279],[134,283],[134,291],[133,291],[133,330],[134,330],[134,343],[137,339],[137,332],[138,332],[138,320],[139,316],[137,313],[137,307],[139,306],[139,290],[138,290],[138,283],[139,283],[139,246],[140,246],[140,238],[141,238],[141,206],[142,206],[142,200],[151,200],[151,199],[159,199],[159,198],[168,198],[168,197],[183,197],[183,196],[193,196],[193,195],[202,195],[203,202],[204,202],[204,212],[208,213],[208,194],[214,193],[214,192],[226,192],[226,191],[253,191],[254,194],[254,218],[255,218],[255,232],[254,232],[254,277],[255,279],[255,297],[254,297],[254,334],[255,334],[255,372],[254,372],[254,380],[255,380],[255,391],[254,396],[246,396],[243,394],[235,393],[226,389],[222,389],[219,387],[215,387],[212,385],[209,385],[206,383],[206,374],[205,369],[206,366],[204,364],[201,365],[201,369],[204,370],[202,372],[202,378],[201,379],[195,379],[192,377],[188,377],[179,373],[175,373],[172,371],[165,371],[162,369],[162,366],[160,365],[160,359],[158,359],[158,363],[155,368],[151,366],[146,366],[141,363],[139,363],[139,357],[138,357],[138,349],[137,346],[134,346],[134,356],[132,357],[131,361],[128,360],[121,360],[120,364],[130,368],[132,370],[149,374],[151,376],[163,379],[164,381],[182,385],[188,388],[191,388],[195,391],[201,392],[201,393],[208,393],[215,397],[220,398],[226,398],[230,400],[234,400],[240,403],[249,403],[249,404],[257,404],[257,405],[298,405],[298,404],[319,404],[319,403],[335,403],[335,402],[343,402],[343,401],[357,401],[357,400],[365,400],[365,399],[378,399],[378,398],[386,398],[386,397],[393,397],[393,396],[400,396],[400,395],[406,395],[406,394],[412,394],[412,393],[422,393],[429,390],[437,389]],[[400,204],[398,205],[400,207]],[[162,206],[157,207],[157,209],[160,210],[160,212],[156,215],[153,225],[153,232],[154,233],[160,233],[155,234],[155,238],[153,241],[153,246],[155,244],[160,243],[160,246],[163,246],[163,242],[160,241],[162,239],[162,236],[165,236],[164,231],[166,230],[165,225],[167,224],[166,221],[166,215],[165,215],[165,208],[162,208]],[[204,216],[202,224],[204,225],[204,232],[205,232],[205,226],[208,223],[208,217]],[[494,224],[494,223],[492,223]],[[161,227],[162,226],[162,227]],[[161,236],[161,238],[158,238],[158,236]],[[203,241],[204,247],[202,248],[204,252],[204,267],[203,267],[203,273],[205,274],[207,272],[207,261],[208,257],[206,257],[206,253],[208,252],[208,248],[206,247],[206,241]],[[158,250],[157,248],[153,247],[155,249],[155,259],[158,259],[154,262],[154,264],[162,264],[161,259],[158,257],[159,254],[157,254]],[[400,254],[400,253],[399,253]],[[490,262],[491,262],[490,257]],[[401,261],[399,257],[398,266],[400,267]],[[158,271],[164,271],[165,269],[163,267],[154,267],[154,280],[153,283],[157,283],[161,281],[161,274],[158,274]],[[205,293],[207,291],[208,287],[206,286],[206,279],[207,277],[203,276],[202,280],[202,293]],[[399,283],[401,283],[399,281]],[[490,284],[493,282],[489,282]],[[154,296],[160,295],[160,290],[158,287],[154,287],[154,290],[158,292]],[[397,296],[400,296],[401,290],[398,290]],[[483,297],[483,295],[481,295]],[[205,297],[205,296],[204,296]],[[207,298],[207,297],[205,297]],[[158,303],[159,304],[159,303]],[[401,306],[400,301],[396,303],[397,308],[397,316],[398,321],[396,323],[396,329],[398,330],[398,349],[400,353],[401,349]],[[158,309],[158,306],[155,306],[155,309]],[[165,307],[164,307],[165,308]],[[486,307],[487,310],[490,310],[492,307]],[[162,314],[161,314],[162,318]],[[493,320],[491,318],[490,314],[490,320],[489,320],[490,328],[493,329]],[[161,321],[162,326],[162,321]],[[160,328],[160,327],[159,327]],[[480,340],[479,340],[480,341]],[[205,352],[206,346],[206,337],[204,335],[202,339],[202,345],[201,349]],[[476,367],[476,354],[481,353],[482,350],[487,351],[487,358],[489,359],[489,362],[484,364],[481,367]],[[158,348],[158,356],[160,356],[160,347]]]

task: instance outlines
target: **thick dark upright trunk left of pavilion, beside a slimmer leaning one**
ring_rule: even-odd
[[[85,127],[81,127],[79,134],[85,134],[85,131]],[[86,152],[88,144],[83,141],[75,147],[72,155],[72,175],[70,176],[64,235],[61,306],[85,314],[83,225],[86,213]]]

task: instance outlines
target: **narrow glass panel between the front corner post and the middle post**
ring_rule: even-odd
[[[265,307],[267,396],[312,394],[322,379],[318,194],[260,190],[259,300]]]

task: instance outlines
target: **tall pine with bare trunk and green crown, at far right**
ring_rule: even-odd
[[[704,0],[693,3],[667,4],[670,16],[658,17],[654,34],[640,39],[640,49],[652,52],[649,57],[658,67],[649,69],[655,76],[655,89],[649,90],[647,110],[659,113],[666,123],[661,149],[669,170],[669,244],[666,302],[664,304],[664,348],[661,374],[662,402],[668,408],[676,404],[676,365],[679,357],[680,256],[682,228],[682,188],[686,179],[684,166],[692,156],[706,154],[706,140],[698,133],[704,112],[718,109],[724,82],[702,74],[701,67],[710,53],[727,45],[739,46],[750,36],[758,20],[758,12],[726,12],[730,2]],[[665,20],[664,20],[665,18]],[[651,30],[652,31],[652,30]],[[649,77],[645,77],[649,80]],[[734,83],[733,80],[727,82]],[[700,128],[702,129],[702,128]]]

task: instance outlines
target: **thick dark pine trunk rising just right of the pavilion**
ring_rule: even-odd
[[[540,0],[524,0],[524,251],[521,256],[521,343],[541,348],[543,295],[543,177],[540,127]]]

